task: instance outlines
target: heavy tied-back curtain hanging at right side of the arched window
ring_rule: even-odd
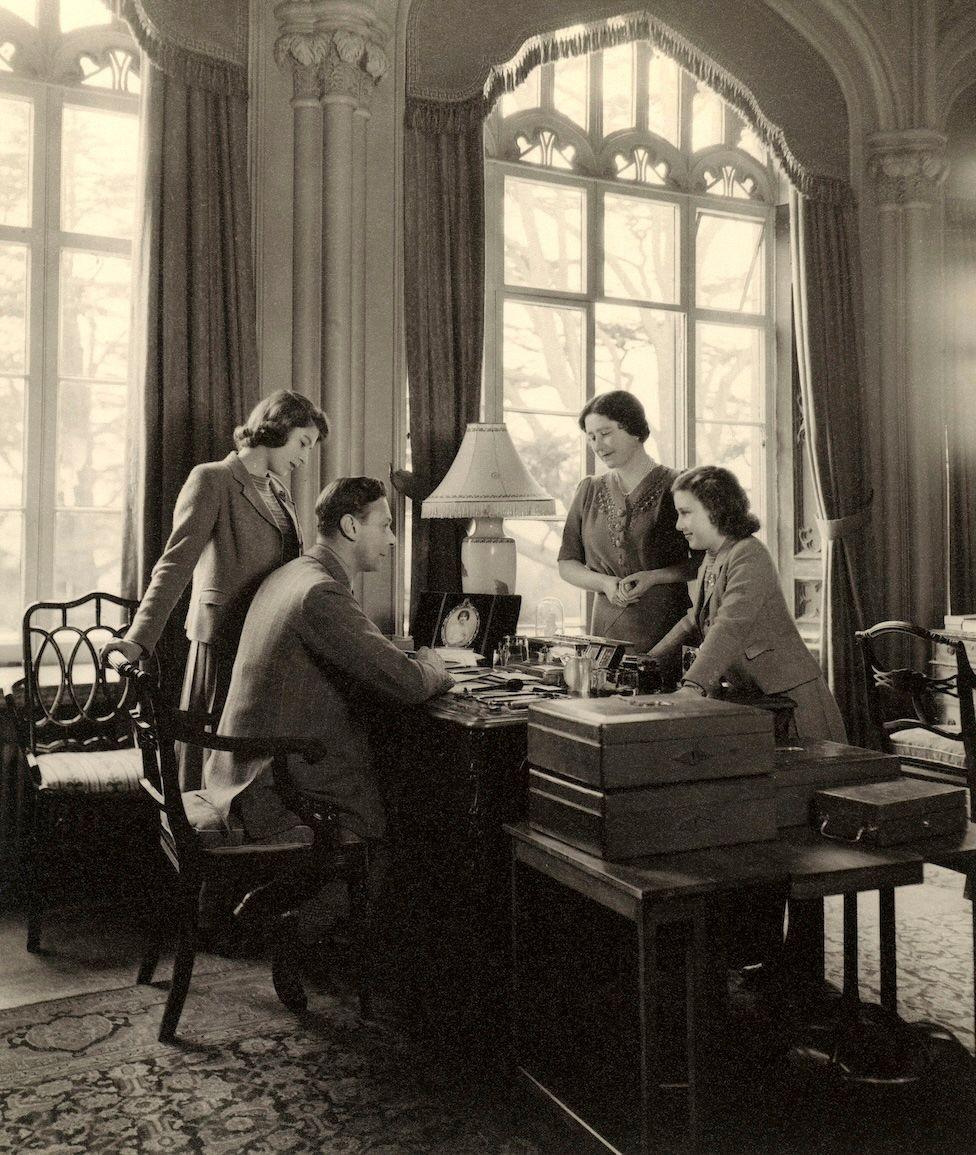
[[[794,322],[806,440],[825,551],[821,661],[850,740],[865,745],[867,707],[855,629],[874,620],[864,527],[871,491],[862,411],[860,276],[850,199],[790,192]]]

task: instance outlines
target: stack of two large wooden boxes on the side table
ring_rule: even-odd
[[[649,694],[529,707],[529,824],[602,858],[776,837],[773,717]]]

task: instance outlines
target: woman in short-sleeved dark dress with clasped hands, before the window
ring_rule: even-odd
[[[650,430],[629,393],[598,394],[579,420],[608,472],[580,482],[566,515],[559,576],[595,594],[591,633],[649,650],[688,609],[686,583],[701,560],[675,528],[677,474],[645,449]],[[679,661],[665,663],[670,680]]]

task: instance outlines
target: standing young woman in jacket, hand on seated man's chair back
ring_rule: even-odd
[[[180,595],[193,582],[186,635],[189,656],[182,709],[219,714],[230,686],[247,608],[265,578],[301,552],[289,483],[314,444],[329,434],[326,415],[299,393],[278,389],[234,430],[237,449],[191,470],[173,511],[173,529],[125,638],[102,650],[129,662],[156,647]],[[181,767],[184,789],[200,768]]]

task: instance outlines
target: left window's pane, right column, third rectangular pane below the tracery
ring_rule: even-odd
[[[58,504],[119,509],[126,387],[62,381],[58,396]]]

